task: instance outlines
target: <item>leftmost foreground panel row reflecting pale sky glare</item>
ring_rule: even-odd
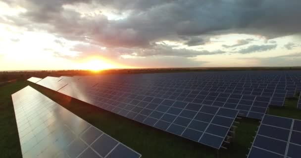
[[[12,100],[23,158],[141,157],[30,86]]]

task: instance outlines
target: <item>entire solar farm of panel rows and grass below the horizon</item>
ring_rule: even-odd
[[[11,117],[23,158],[301,155],[301,71],[49,76],[14,84]]]

